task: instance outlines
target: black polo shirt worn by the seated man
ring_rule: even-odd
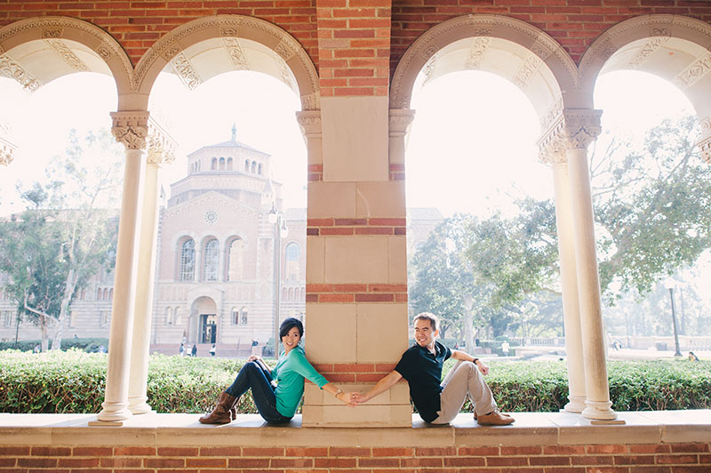
[[[439,393],[442,392],[442,365],[451,357],[451,349],[435,341],[433,355],[417,343],[403,353],[395,371],[410,384],[410,396],[423,421],[431,422],[440,410]]]

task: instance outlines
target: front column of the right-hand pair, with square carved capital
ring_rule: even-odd
[[[571,189],[572,232],[582,334],[587,399],[583,416],[612,420],[610,388],[605,365],[603,313],[595,251],[595,220],[590,192],[587,147],[600,133],[602,110],[563,110],[564,132],[571,148],[566,151]]]

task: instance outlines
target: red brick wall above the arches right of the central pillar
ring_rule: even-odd
[[[671,13],[711,22],[711,3],[697,0],[395,0],[390,70],[427,29],[468,14],[495,13],[536,26],[579,62],[607,28],[647,14]]]

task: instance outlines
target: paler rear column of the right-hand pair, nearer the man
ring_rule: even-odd
[[[564,409],[570,413],[582,413],[586,406],[585,365],[580,330],[578,275],[573,245],[571,188],[568,179],[568,161],[565,157],[568,140],[562,135],[561,130],[562,120],[559,120],[539,140],[539,159],[543,164],[551,166],[555,188],[555,226],[558,234],[565,355],[568,366],[569,402]]]

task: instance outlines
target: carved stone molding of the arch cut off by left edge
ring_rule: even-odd
[[[119,94],[132,90],[133,67],[131,60],[128,59],[123,47],[113,36],[92,23],[77,20],[76,18],[60,16],[15,21],[10,25],[0,28],[0,53],[8,49],[3,46],[6,41],[14,47],[15,45],[35,41],[37,39],[44,39],[47,42],[63,39],[84,44],[96,52],[101,59],[106,61],[108,68],[111,69],[116,79]],[[62,42],[62,45],[69,49],[67,44]],[[52,45],[52,47],[54,47],[54,45]],[[71,50],[69,50],[69,52],[71,52]],[[72,54],[74,55],[73,52]],[[62,57],[68,60],[68,57]],[[74,62],[68,61],[68,63],[73,68],[80,68],[81,66],[78,66],[78,64],[83,64],[83,62],[78,58],[76,58],[76,60],[78,62],[72,59],[71,61]],[[76,70],[88,70],[88,68]],[[27,81],[21,82],[20,84],[28,90],[36,90],[36,88],[42,85],[39,81],[37,81],[36,84],[28,83]]]

